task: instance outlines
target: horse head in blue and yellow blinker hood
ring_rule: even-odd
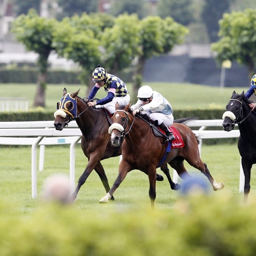
[[[64,88],[63,97],[57,103],[57,111],[54,113],[54,126],[56,130],[61,131],[70,121],[76,119],[78,112],[76,96],[79,90],[75,93],[67,93],[67,89]]]

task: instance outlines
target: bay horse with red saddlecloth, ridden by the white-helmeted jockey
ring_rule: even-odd
[[[138,169],[148,174],[149,197],[153,208],[156,198],[156,168],[165,154],[166,138],[156,137],[150,125],[139,116],[132,115],[129,105],[120,106],[120,108],[122,109],[116,105],[116,111],[112,117],[113,124],[109,128],[113,145],[119,146],[121,138],[125,137],[122,144],[119,174],[110,191],[99,203],[107,203],[127,173]],[[169,163],[181,178],[186,179],[190,177],[183,165],[183,161],[186,160],[208,178],[213,190],[223,189],[224,184],[217,183],[213,179],[207,165],[200,159],[198,139],[192,130],[182,123],[174,123],[173,126],[179,131],[185,145],[183,148],[172,148],[163,164]]]

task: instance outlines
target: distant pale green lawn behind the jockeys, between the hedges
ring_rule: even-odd
[[[198,84],[178,84],[178,83],[147,83],[153,90],[162,93],[172,105],[174,109],[224,109],[230,99],[233,90],[241,93],[247,91],[247,87],[212,87]],[[145,85],[145,84],[143,84]],[[127,84],[131,93],[131,84]],[[32,107],[36,86],[35,84],[0,84],[1,97],[27,97],[29,99],[29,107]],[[67,87],[68,92],[80,90],[80,96],[87,96],[85,85],[64,85],[64,84],[48,84],[46,90],[46,110],[56,108],[56,102],[62,97],[63,88]],[[97,98],[106,96],[103,89],[100,89]],[[135,102],[132,102],[135,103]]]

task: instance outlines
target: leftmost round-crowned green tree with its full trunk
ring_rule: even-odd
[[[38,80],[34,106],[45,106],[48,57],[52,50],[52,38],[57,20],[39,17],[34,9],[18,16],[12,23],[12,32],[28,51],[38,53]]]

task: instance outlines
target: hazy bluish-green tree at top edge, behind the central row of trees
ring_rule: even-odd
[[[172,17],[184,26],[195,20],[192,0],[160,0],[157,4],[157,14],[162,18]]]

